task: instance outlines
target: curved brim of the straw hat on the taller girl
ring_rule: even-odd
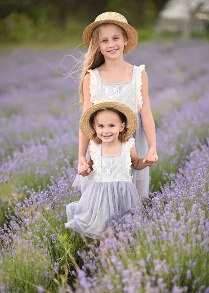
[[[83,41],[84,41],[84,44],[86,45],[86,47],[89,46],[93,30],[98,25],[103,24],[103,23],[117,24],[117,25],[121,26],[126,31],[127,37],[128,37],[128,43],[124,48],[124,54],[130,52],[131,50],[133,50],[133,48],[135,48],[137,46],[139,37],[138,37],[137,31],[135,30],[135,28],[133,28],[133,26],[131,26],[130,24],[127,24],[123,21],[106,19],[106,20],[102,20],[102,21],[94,21],[85,28],[84,34],[83,34]]]

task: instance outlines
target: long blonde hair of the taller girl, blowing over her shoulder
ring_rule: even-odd
[[[86,53],[86,60],[84,63],[83,71],[81,74],[81,81],[79,86],[79,95],[80,95],[80,103],[83,108],[84,105],[84,77],[89,69],[95,69],[104,63],[104,56],[101,52],[98,51],[100,45],[100,32],[103,27],[111,23],[103,23],[98,25],[92,33],[91,41],[89,43],[88,51]],[[117,25],[117,24],[115,24]],[[123,34],[123,36],[128,40],[126,31],[119,25],[117,25]]]

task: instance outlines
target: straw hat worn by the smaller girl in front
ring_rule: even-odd
[[[92,129],[92,127],[89,125],[89,119],[93,113],[95,113],[98,110],[105,109],[105,108],[112,108],[116,109],[120,112],[122,112],[126,119],[127,119],[127,125],[128,128],[127,131],[127,137],[131,136],[135,131],[137,127],[137,117],[136,114],[125,104],[113,100],[113,99],[107,99],[107,100],[99,100],[94,105],[90,106],[82,115],[80,119],[80,128],[81,131],[84,133],[85,136],[87,136],[89,139],[92,139],[93,134],[95,131]]]

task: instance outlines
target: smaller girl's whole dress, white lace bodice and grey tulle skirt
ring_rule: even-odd
[[[130,174],[130,148],[133,145],[134,138],[130,138],[122,143],[121,155],[102,156],[101,145],[90,141],[94,182],[86,188],[79,201],[66,206],[65,228],[90,238],[100,238],[108,233],[108,224],[120,221],[131,214],[131,209],[140,206]]]

